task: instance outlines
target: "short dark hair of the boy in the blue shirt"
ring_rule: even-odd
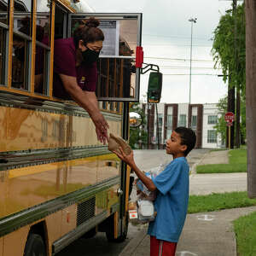
[[[174,131],[181,137],[181,144],[187,146],[187,149],[184,151],[185,156],[187,156],[195,147],[195,131],[186,127],[177,127]]]

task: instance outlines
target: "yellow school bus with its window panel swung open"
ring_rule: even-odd
[[[96,95],[108,132],[128,139],[142,15],[91,13],[84,2],[0,0],[0,256],[55,255],[84,234],[127,234],[130,171],[96,140],[84,109],[52,95],[54,47],[83,20],[101,20]]]

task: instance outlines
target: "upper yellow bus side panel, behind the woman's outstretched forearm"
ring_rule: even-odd
[[[120,135],[119,119],[106,119],[108,132]],[[0,152],[101,145],[89,116],[0,107],[0,123]]]

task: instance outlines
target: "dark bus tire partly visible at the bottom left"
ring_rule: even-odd
[[[26,240],[24,256],[46,256],[42,236],[30,234]]]

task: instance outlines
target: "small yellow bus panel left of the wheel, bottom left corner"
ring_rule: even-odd
[[[26,245],[26,237],[29,232],[29,226],[3,236],[3,255],[22,256]]]

